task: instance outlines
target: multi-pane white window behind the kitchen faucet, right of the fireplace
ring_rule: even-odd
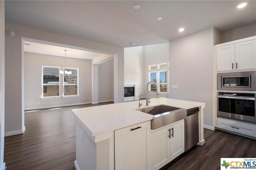
[[[168,92],[168,63],[161,63],[158,65],[149,65],[149,81],[153,81],[157,85],[158,92]],[[156,85],[150,84],[150,91],[156,91]]]

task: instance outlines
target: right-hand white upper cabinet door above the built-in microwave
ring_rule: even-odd
[[[256,68],[256,40],[236,43],[236,69]]]

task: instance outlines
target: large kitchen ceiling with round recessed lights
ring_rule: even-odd
[[[8,22],[96,42],[131,47],[166,43],[215,27],[220,32],[256,23],[256,1],[246,0],[5,1]],[[134,4],[140,4],[135,10]],[[156,18],[162,16],[158,21]],[[184,32],[178,32],[184,27]]]

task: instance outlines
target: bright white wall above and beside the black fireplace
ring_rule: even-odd
[[[124,48],[124,85],[136,85],[136,100],[144,93],[144,46]]]

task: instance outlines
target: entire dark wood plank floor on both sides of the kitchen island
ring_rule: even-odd
[[[75,122],[70,109],[90,106],[26,112],[25,133],[4,140],[7,170],[73,170]],[[255,140],[207,129],[204,129],[204,138],[203,147],[194,146],[164,169],[219,170],[220,158],[256,158]]]

